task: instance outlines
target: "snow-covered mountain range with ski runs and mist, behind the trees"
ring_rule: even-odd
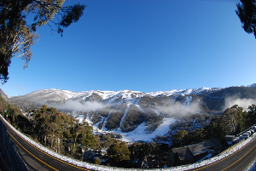
[[[98,130],[114,131],[127,139],[130,137],[130,140],[135,137],[142,140],[145,134],[147,139],[166,134],[169,125],[183,116],[195,113],[214,115],[229,105],[244,105],[246,110],[248,105],[256,103],[255,85],[150,93],[131,90],[72,92],[51,88],[15,97],[2,96],[23,109],[46,104],[73,114],[80,122],[86,120]],[[233,101],[237,104],[232,104]]]

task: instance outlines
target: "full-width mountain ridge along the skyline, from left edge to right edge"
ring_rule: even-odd
[[[255,88],[256,83],[253,83],[251,85],[247,86],[240,86],[240,87],[229,87],[231,88]],[[26,105],[33,105],[40,106],[44,104],[61,104],[66,102],[67,100],[73,100],[73,101],[98,101],[102,103],[108,103],[111,104],[113,102],[127,102],[136,100],[137,103],[139,102],[138,98],[147,99],[147,97],[150,98],[156,98],[156,99],[173,99],[173,100],[184,100],[183,97],[186,97],[188,95],[192,96],[198,96],[207,99],[207,96],[209,94],[212,94],[214,92],[221,91],[226,88],[188,88],[188,89],[174,89],[174,90],[167,90],[167,91],[156,91],[156,92],[150,92],[150,93],[143,93],[140,91],[131,91],[131,90],[119,90],[119,91],[101,91],[101,90],[90,90],[90,91],[81,91],[81,92],[73,92],[70,90],[62,90],[62,89],[56,89],[56,88],[49,88],[49,89],[40,89],[33,91],[30,94],[24,94],[20,96],[13,96],[9,97],[8,95],[4,94],[1,90],[1,96],[7,100],[9,103],[13,105],[19,105],[21,107]],[[205,94],[205,95],[204,95]],[[223,94],[223,93],[222,93]],[[238,93],[239,94],[239,93]],[[216,96],[216,95],[215,95]],[[221,96],[218,94],[218,96]],[[214,97],[217,98],[217,97]],[[221,97],[218,97],[221,98]],[[212,99],[212,98],[210,98]],[[135,103],[135,102],[133,102]],[[218,109],[219,110],[219,109]]]

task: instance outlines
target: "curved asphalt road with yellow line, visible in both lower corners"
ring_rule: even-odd
[[[68,162],[61,161],[58,158],[52,157],[44,151],[39,150],[36,146],[30,144],[26,140],[16,134],[9,126],[2,120],[4,126],[7,128],[10,136],[15,141],[20,156],[32,170],[91,170],[88,168],[80,168]],[[234,171],[245,170],[248,165],[256,157],[256,139],[254,138],[250,143],[245,145],[240,151],[236,151],[232,155],[223,158],[218,162],[213,162],[210,165],[201,168],[194,168],[190,170],[221,170],[221,171]]]

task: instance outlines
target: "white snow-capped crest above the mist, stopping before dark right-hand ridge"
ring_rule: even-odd
[[[67,100],[76,100],[86,101],[87,98],[91,96],[98,96],[98,100],[102,100],[104,102],[112,103],[114,100],[122,99],[125,101],[135,100],[137,98],[142,98],[144,96],[148,97],[160,97],[160,96],[185,96],[189,94],[202,94],[207,92],[213,92],[219,90],[221,88],[196,88],[196,89],[180,89],[180,90],[170,90],[170,91],[157,91],[150,93],[143,93],[139,91],[131,91],[131,90],[120,90],[120,91],[83,91],[83,92],[73,92],[69,90],[62,89],[41,89],[34,91],[30,94],[20,95],[9,98],[11,101],[20,101],[27,100],[35,103],[46,103],[46,102],[65,102]],[[8,96],[5,96],[5,98]]]

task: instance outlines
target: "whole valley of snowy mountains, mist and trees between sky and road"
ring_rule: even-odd
[[[67,156],[79,158],[86,151],[105,151],[107,155],[98,160],[117,167],[130,159],[133,162],[130,167],[141,168],[136,163],[142,158],[152,167],[158,164],[164,167],[167,163],[169,166],[170,149],[200,145],[207,140],[213,140],[213,144],[218,142],[216,145],[222,146],[219,149],[228,148],[225,135],[240,134],[254,123],[252,119],[255,117],[255,84],[154,93],[131,90],[71,92],[54,88],[16,97],[9,97],[3,91],[0,93],[11,104],[3,105],[3,113],[15,128],[23,129],[33,139]],[[21,117],[17,115],[19,112]],[[113,157],[113,145],[123,145],[124,142],[128,145],[126,156]],[[152,146],[151,150],[149,146]],[[156,158],[160,161],[153,162]],[[198,159],[195,157],[181,164]],[[83,160],[96,162],[92,158]]]

